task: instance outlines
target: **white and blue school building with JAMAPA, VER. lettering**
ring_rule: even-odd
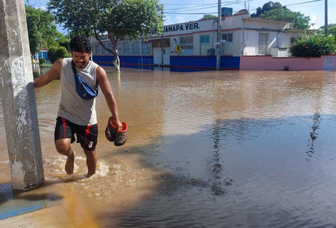
[[[139,63],[161,64],[161,47],[164,48],[164,65],[179,68],[216,69],[217,19],[205,19],[164,26],[162,38],[152,31],[149,41],[128,39],[117,44],[121,67],[138,67]],[[253,18],[249,13],[222,17],[221,61],[222,70],[239,70],[242,56],[288,57],[289,46],[303,30],[283,21]],[[107,35],[101,41],[112,49]],[[182,51],[177,54],[174,48]],[[92,37],[93,60],[100,65],[113,66],[110,53]]]

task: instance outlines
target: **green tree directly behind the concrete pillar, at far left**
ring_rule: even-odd
[[[62,35],[56,30],[52,14],[46,10],[26,5],[26,19],[30,52],[32,54],[41,50],[39,25],[41,27],[42,48],[58,45],[56,39]]]

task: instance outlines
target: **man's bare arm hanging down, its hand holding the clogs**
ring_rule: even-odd
[[[100,86],[101,92],[103,93],[107,105],[109,106],[109,109],[112,113],[114,125],[117,127],[117,129],[122,130],[123,126],[119,121],[117,102],[114,99],[111,85],[107,78],[107,74],[105,70],[100,66],[96,68],[96,78],[98,81],[98,85]]]

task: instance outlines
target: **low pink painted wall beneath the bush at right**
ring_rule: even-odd
[[[324,57],[241,56],[240,70],[284,70],[285,66],[289,66],[289,70],[323,70]]]

